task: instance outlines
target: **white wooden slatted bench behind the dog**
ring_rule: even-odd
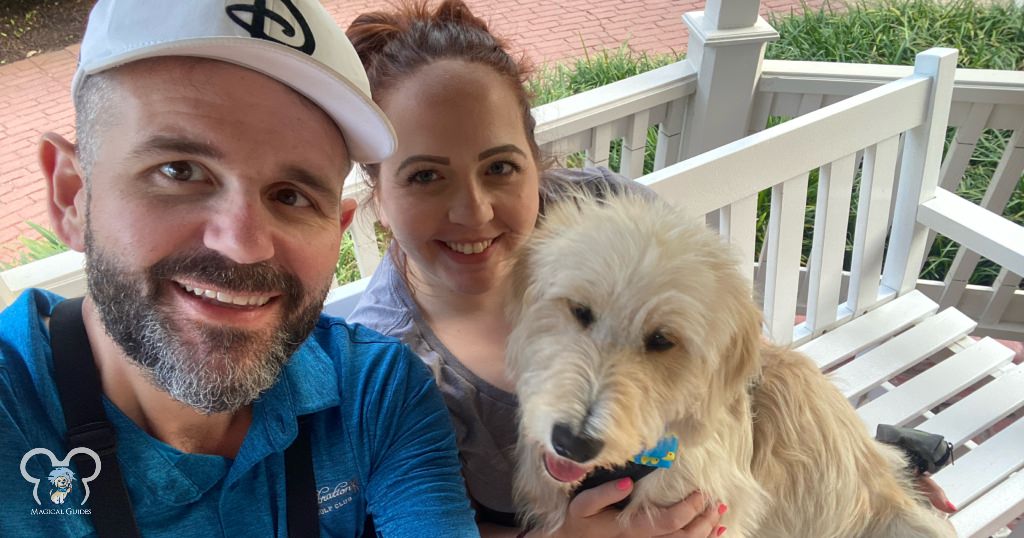
[[[975,321],[940,308],[915,285],[930,233],[1024,274],[1024,230],[937,187],[954,67],[955,51],[932,49],[908,77],[638,181],[707,215],[746,253],[763,290],[767,334],[828,371],[872,434],[879,423],[911,425],[953,443],[955,464],[935,480],[959,508],[952,516],[958,534],[984,537],[1024,513],[1024,420],[989,432],[1024,407],[1024,365],[1014,365],[1014,353],[996,340],[969,336]],[[815,169],[813,242],[803,267]],[[858,174],[852,263],[844,273]],[[755,200],[765,190],[767,240],[754,263]],[[795,323],[802,284],[806,317]],[[335,289],[326,311],[346,315],[365,285]]]

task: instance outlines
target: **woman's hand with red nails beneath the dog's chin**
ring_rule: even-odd
[[[725,513],[724,504],[715,503],[705,507],[703,496],[699,492],[678,503],[660,508],[654,518],[637,514],[627,527],[618,524],[620,511],[612,504],[625,499],[633,491],[633,481],[622,479],[602,484],[580,493],[569,503],[565,524],[554,534],[540,531],[526,534],[528,538],[709,538],[722,536],[724,527],[718,525]]]

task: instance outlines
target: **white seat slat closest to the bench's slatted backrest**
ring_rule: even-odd
[[[797,350],[810,357],[818,368],[824,370],[903,331],[937,309],[935,301],[914,290],[818,336],[797,347]]]

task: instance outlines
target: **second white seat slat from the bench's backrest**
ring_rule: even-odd
[[[843,396],[856,398],[970,333],[977,324],[946,308],[916,327],[837,368],[831,380]]]

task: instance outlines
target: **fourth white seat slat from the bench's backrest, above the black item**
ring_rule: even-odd
[[[941,433],[946,437],[946,441],[961,446],[1022,407],[1024,407],[1024,365],[1018,365],[938,415],[922,422],[916,428]]]

